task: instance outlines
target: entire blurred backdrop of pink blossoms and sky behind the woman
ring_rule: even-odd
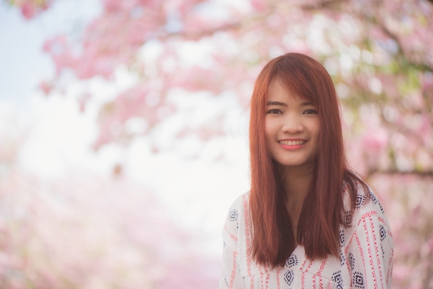
[[[0,1],[0,288],[216,288],[268,59],[320,60],[433,287],[432,1]]]

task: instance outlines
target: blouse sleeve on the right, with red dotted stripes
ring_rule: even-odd
[[[391,288],[394,247],[384,214],[363,212],[348,257],[354,288]]]

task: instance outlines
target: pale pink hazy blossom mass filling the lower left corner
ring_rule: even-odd
[[[216,287],[219,262],[197,250],[154,194],[121,175],[71,170],[47,182],[17,165],[27,132],[0,118],[0,288]],[[143,192],[147,192],[143,194]]]

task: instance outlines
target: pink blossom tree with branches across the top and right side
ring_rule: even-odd
[[[160,131],[183,113],[178,95],[246,108],[268,59],[307,53],[335,82],[351,164],[384,200],[396,241],[394,287],[433,286],[432,1],[101,1],[100,16],[79,35],[46,41],[56,74],[41,85],[50,95],[71,82],[109,85],[128,75],[130,84],[100,106],[95,149]],[[52,1],[11,3],[30,19]],[[77,96],[82,110],[94,97]],[[208,114],[166,140],[227,133],[227,111]],[[153,145],[155,153],[172,149]]]

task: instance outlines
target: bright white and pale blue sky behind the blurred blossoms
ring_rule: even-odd
[[[98,1],[62,0],[26,21],[16,8],[0,2],[0,138],[15,138],[19,168],[42,180],[80,170],[108,177],[113,164],[127,164],[127,178],[156,192],[179,223],[214,236],[210,246],[219,248],[225,214],[232,201],[248,190],[246,111],[233,111],[228,136],[206,143],[199,158],[188,157],[193,142],[155,155],[146,138],[137,138],[127,150],[108,145],[95,153],[91,145],[97,133],[98,101],[80,113],[74,90],[46,97],[37,88],[55,73],[53,62],[42,51],[44,40],[80,29],[99,11]],[[101,95],[107,94],[102,85],[95,87]],[[109,89],[117,88],[121,87]],[[201,100],[194,102],[200,106],[196,111],[230,106],[215,103],[214,97]],[[224,157],[215,160],[221,152]]]

